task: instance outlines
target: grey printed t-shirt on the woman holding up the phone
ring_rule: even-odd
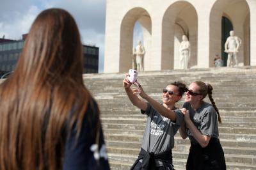
[[[184,121],[184,116],[180,110],[175,110],[176,121],[172,121],[161,116],[150,104],[147,103],[146,111],[148,120],[143,135],[141,148],[148,152],[162,153],[172,150],[174,146],[174,135],[179,130],[180,124]]]

